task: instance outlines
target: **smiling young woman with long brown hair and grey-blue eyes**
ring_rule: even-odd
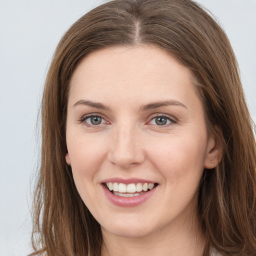
[[[191,0],[114,0],[42,99],[31,255],[255,255],[255,140],[230,43]]]

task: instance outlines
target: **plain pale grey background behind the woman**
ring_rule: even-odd
[[[214,13],[230,38],[255,121],[256,0],[198,1]],[[101,2],[0,0],[0,256],[31,252],[30,183],[47,67],[64,31]]]

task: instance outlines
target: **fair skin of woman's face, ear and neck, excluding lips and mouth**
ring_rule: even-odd
[[[101,123],[90,124],[90,114]],[[156,115],[166,124],[157,125]],[[218,149],[186,67],[150,45],[90,53],[71,78],[66,143],[77,190],[101,225],[102,256],[203,254],[197,190],[203,168],[218,163]],[[116,206],[101,184],[113,177],[146,178],[158,186],[137,206]]]

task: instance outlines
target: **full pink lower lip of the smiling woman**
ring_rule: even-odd
[[[118,196],[110,192],[105,185],[102,184],[104,193],[106,195],[106,198],[114,205],[116,206],[124,206],[124,207],[133,207],[137,206],[143,202],[145,202],[149,197],[151,197],[155,191],[155,188],[152,188],[150,191],[136,195],[136,196],[131,196],[131,197],[123,197],[123,196]]]

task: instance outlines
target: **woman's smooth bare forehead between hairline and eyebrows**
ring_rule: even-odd
[[[79,62],[71,78],[69,100],[186,100],[184,96],[195,94],[192,80],[188,68],[156,46],[108,47]]]

